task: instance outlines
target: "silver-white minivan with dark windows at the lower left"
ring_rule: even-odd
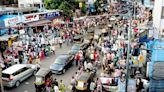
[[[34,75],[37,66],[31,64],[16,64],[2,71],[3,85],[7,87],[18,87],[22,81]]]

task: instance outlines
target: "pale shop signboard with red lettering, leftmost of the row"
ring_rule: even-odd
[[[14,26],[19,22],[20,22],[20,17],[19,16],[16,16],[16,17],[13,17],[13,18],[7,18],[7,19],[4,20],[4,23],[5,23],[6,27]]]

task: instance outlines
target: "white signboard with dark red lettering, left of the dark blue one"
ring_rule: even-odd
[[[23,15],[22,19],[24,23],[38,21],[39,15]]]

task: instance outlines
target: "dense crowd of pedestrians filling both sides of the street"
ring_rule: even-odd
[[[114,7],[113,7],[114,8]],[[113,9],[114,10],[114,9]],[[135,27],[144,23],[147,20],[151,20],[151,11],[143,9],[143,7],[136,7],[136,18],[132,18],[133,25]],[[70,81],[70,89],[76,92],[77,80],[80,74],[84,71],[93,71],[95,67],[100,63],[102,65],[102,71],[100,76],[110,76],[114,79],[120,79],[121,82],[125,82],[125,71],[127,64],[127,33],[128,33],[128,20],[123,17],[116,17],[116,20],[112,21],[111,16],[98,16],[89,17],[82,20],[75,21],[74,29],[54,29],[53,27],[45,27],[42,31],[34,31],[32,29],[26,29],[24,35],[19,37],[18,41],[9,45],[6,50],[1,51],[3,69],[8,68],[14,64],[38,64],[45,59],[46,56],[55,54],[56,46],[59,45],[62,48],[64,42],[69,45],[72,42],[73,37],[76,35],[76,31],[80,31],[84,36],[87,33],[87,29],[95,28],[99,30],[106,30],[102,33],[98,39],[94,39],[86,51],[79,51],[75,55],[75,65],[78,66],[78,70]],[[110,26],[111,25],[111,26]],[[138,37],[139,32],[134,30],[135,36]],[[57,45],[56,45],[57,44]],[[132,43],[130,47],[130,62],[128,63],[130,68],[137,66],[132,71],[131,77],[135,76],[138,72],[142,73],[142,67],[144,65],[145,52],[140,51],[143,48],[143,44]],[[142,78],[142,77],[141,77]],[[143,90],[143,82],[141,78],[137,79],[136,90],[137,92]],[[114,80],[118,84],[118,80]],[[51,92],[47,80],[46,90]],[[114,82],[110,82],[114,83]],[[65,92],[67,86],[63,80],[58,82],[56,79],[52,81],[54,92]],[[103,92],[103,86],[99,77],[93,79],[89,83],[89,90],[91,92]],[[125,90],[125,89],[123,89]]]

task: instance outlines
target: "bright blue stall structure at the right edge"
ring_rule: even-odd
[[[150,86],[149,86],[149,92],[164,92],[164,80],[160,79],[154,79],[153,76],[160,76],[160,75],[153,75],[153,71],[156,70],[157,72],[160,72],[162,70],[160,67],[155,68],[154,64],[157,64],[157,62],[164,62],[164,42],[162,41],[150,41],[148,43],[148,47],[152,51],[152,57],[151,57],[151,63],[150,63]],[[163,66],[162,66],[163,67]]]

